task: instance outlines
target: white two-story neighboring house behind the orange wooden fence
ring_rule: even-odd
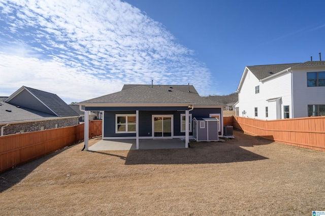
[[[325,115],[325,61],[246,66],[236,113],[263,120]]]

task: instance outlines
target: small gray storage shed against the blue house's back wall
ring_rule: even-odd
[[[218,141],[217,118],[193,118],[193,137],[197,141]]]

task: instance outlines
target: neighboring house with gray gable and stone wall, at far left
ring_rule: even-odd
[[[56,94],[22,86],[0,98],[1,135],[78,125],[79,115]]]

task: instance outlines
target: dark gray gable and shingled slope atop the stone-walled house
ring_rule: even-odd
[[[4,102],[58,117],[79,116],[56,94],[22,86]]]

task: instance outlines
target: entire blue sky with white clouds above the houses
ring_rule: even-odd
[[[0,0],[0,96],[67,103],[123,84],[236,91],[247,65],[325,59],[325,1]]]

